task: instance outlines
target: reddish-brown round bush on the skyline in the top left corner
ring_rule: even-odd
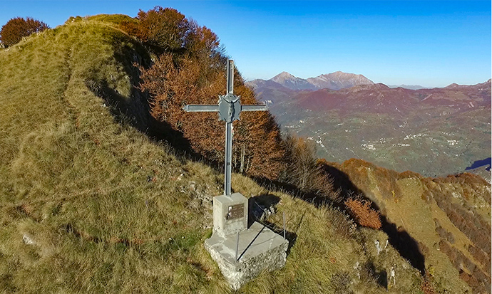
[[[21,17],[16,17],[5,23],[1,27],[0,31],[0,41],[4,46],[9,47],[16,43],[19,43],[22,38],[30,36],[31,33],[37,33],[44,31],[49,26],[43,21],[38,21],[36,19],[23,19]]]

